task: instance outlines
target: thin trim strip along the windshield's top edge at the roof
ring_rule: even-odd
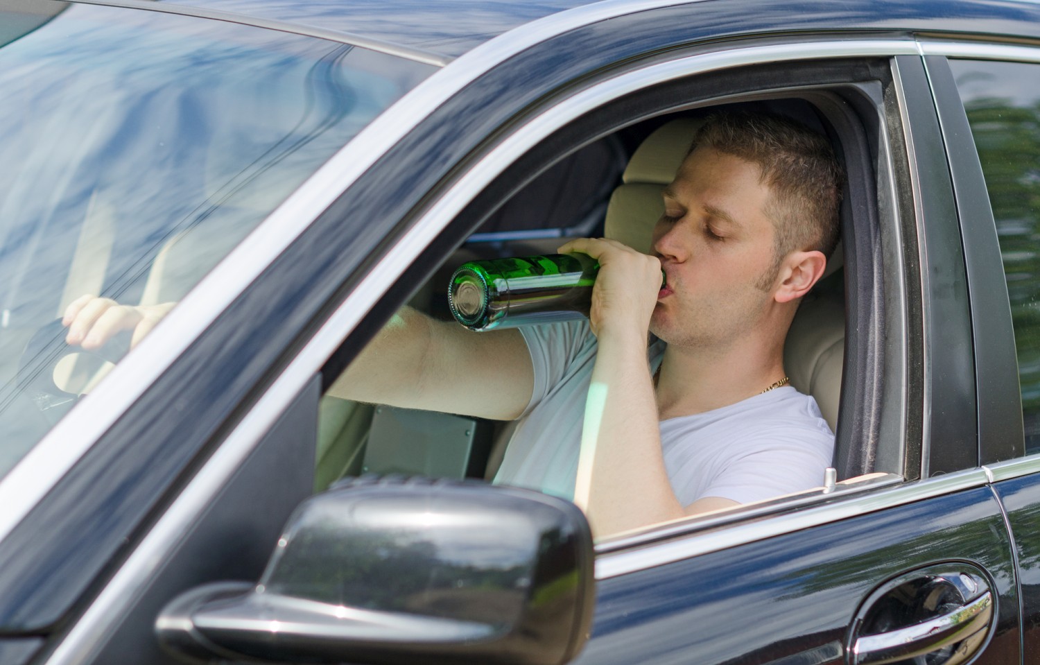
[[[234,11],[220,11],[217,9],[206,9],[199,6],[185,6],[171,4],[167,2],[155,2],[154,0],[72,0],[72,2],[76,4],[96,4],[106,7],[122,7],[125,9],[142,9],[145,11],[159,11],[161,14],[176,14],[178,16],[194,17],[197,19],[213,19],[214,21],[224,21],[225,23],[237,23],[238,25],[248,25],[255,28],[278,30],[279,32],[290,32],[292,34],[302,34],[305,36],[317,37],[319,40],[328,40],[330,42],[339,42],[340,44],[358,46],[371,51],[379,51],[380,53],[386,53],[387,55],[396,55],[397,57],[404,57],[417,62],[433,65],[435,67],[444,67],[451,61],[451,58],[441,55],[440,53],[434,53],[433,51],[416,49],[409,46],[401,46],[400,44],[385,42],[383,40],[374,40],[372,37],[362,36],[353,32],[330,30],[329,28],[319,28],[306,23],[291,23],[289,21],[278,21],[276,19],[263,19]]]

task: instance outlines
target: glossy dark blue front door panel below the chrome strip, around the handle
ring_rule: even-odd
[[[580,663],[843,663],[888,580],[973,562],[995,596],[977,663],[1018,662],[1014,558],[989,487],[889,508],[603,580]]]

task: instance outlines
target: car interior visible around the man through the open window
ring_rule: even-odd
[[[824,125],[826,118],[802,99],[729,106],[764,107],[834,137],[833,130]],[[702,119],[716,108],[631,125],[552,164],[488,216],[411,297],[410,305],[449,319],[446,290],[458,265],[474,259],[552,254],[568,237],[602,235],[649,252],[651,230],[664,211],[661,189],[672,181]],[[836,148],[841,158],[839,143]],[[842,207],[844,226],[850,207]],[[816,400],[834,431],[838,430],[846,351],[843,254],[839,242],[825,277],[800,305],[784,352],[791,384]],[[511,432],[510,423],[361,405],[326,395],[318,426],[315,490],[362,474],[491,481]],[[835,459],[838,466],[837,453]],[[842,468],[837,480],[861,479],[864,471],[874,470]]]

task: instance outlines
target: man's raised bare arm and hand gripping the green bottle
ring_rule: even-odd
[[[647,364],[647,330],[660,287],[660,262],[614,240],[579,239],[561,252],[599,259],[590,316],[599,349],[578,461],[574,500],[597,537],[737,505],[706,497],[679,503],[668,479]]]

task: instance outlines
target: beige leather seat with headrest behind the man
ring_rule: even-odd
[[[697,119],[662,125],[635,150],[610,197],[604,234],[640,252],[650,252],[654,224],[665,211],[661,189],[672,182],[700,127]],[[841,248],[825,275],[841,265]],[[784,343],[784,367],[791,385],[812,395],[834,430],[837,426],[844,354],[844,304],[810,292],[802,300]]]

